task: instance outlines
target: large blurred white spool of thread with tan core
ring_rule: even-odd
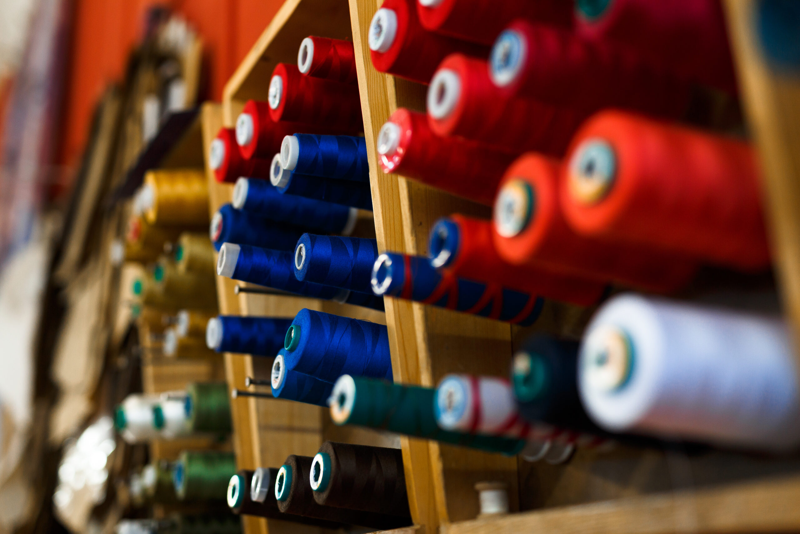
[[[781,451],[800,444],[782,319],[620,295],[586,329],[578,386],[611,432]]]

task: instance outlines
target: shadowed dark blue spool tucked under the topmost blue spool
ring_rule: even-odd
[[[366,183],[329,180],[318,176],[300,175],[281,167],[281,155],[272,160],[270,182],[284,195],[325,200],[348,207],[372,211],[372,193]]]

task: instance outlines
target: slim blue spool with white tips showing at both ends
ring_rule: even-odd
[[[281,195],[267,180],[254,178],[236,181],[233,206],[265,219],[329,234],[349,235],[358,217],[354,207]]]

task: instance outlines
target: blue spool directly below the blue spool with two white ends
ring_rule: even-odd
[[[303,235],[302,227],[276,223],[248,211],[239,211],[230,204],[220,207],[211,218],[211,243],[219,251],[222,243],[252,245],[278,251],[294,251]]]

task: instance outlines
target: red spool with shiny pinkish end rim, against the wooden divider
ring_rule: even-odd
[[[424,113],[399,108],[378,133],[378,160],[394,172],[487,206],[514,156],[481,143],[439,137]]]

